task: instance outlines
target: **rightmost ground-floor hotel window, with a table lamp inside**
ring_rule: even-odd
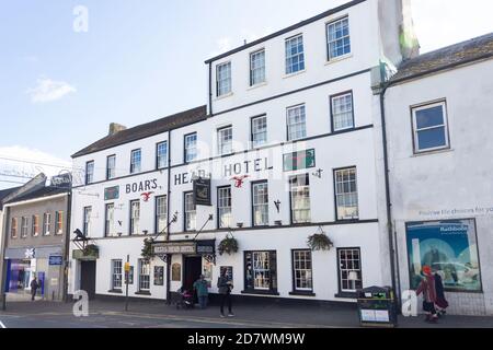
[[[359,248],[337,249],[339,288],[341,292],[355,292],[363,288],[362,254]]]

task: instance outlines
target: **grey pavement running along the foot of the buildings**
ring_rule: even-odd
[[[236,304],[234,317],[221,318],[217,305],[176,310],[162,301],[91,301],[89,316],[76,317],[73,303],[8,302],[0,328],[357,328],[355,305]],[[447,315],[438,324],[423,316],[399,317],[400,328],[493,328],[493,317]]]

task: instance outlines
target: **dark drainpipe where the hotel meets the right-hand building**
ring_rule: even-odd
[[[380,63],[381,65],[381,63]],[[382,81],[383,74],[382,75]],[[387,234],[389,238],[389,253],[390,253],[390,273],[392,281],[392,289],[395,293],[394,298],[394,306],[395,311],[399,313],[400,305],[400,291],[397,290],[397,281],[395,281],[395,248],[393,242],[393,230],[392,230],[392,203],[390,199],[390,176],[389,176],[389,152],[388,152],[388,142],[387,142],[387,124],[386,124],[386,105],[385,105],[385,95],[387,89],[391,85],[390,82],[383,82],[381,84],[381,92],[379,93],[380,97],[380,117],[381,117],[381,135],[382,135],[382,148],[383,148],[383,170],[385,170],[385,184],[386,184],[386,206],[387,206]],[[395,242],[397,243],[397,242]]]

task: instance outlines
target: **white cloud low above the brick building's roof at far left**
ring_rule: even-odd
[[[0,147],[0,189],[21,186],[39,173],[50,177],[70,171],[71,167],[69,161],[36,149],[22,145]]]

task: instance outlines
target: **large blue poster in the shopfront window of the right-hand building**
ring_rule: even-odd
[[[420,284],[423,266],[429,266],[446,291],[481,291],[473,219],[408,223],[406,245],[411,289]]]

